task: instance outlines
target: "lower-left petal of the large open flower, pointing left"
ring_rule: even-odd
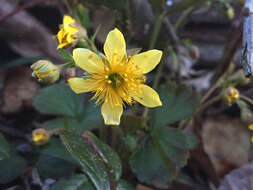
[[[83,78],[70,78],[68,80],[70,88],[76,93],[89,92],[90,83]]]

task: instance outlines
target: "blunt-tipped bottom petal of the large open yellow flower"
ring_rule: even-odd
[[[106,125],[119,125],[123,108],[122,105],[112,106],[110,102],[104,102],[101,107],[101,113]]]

